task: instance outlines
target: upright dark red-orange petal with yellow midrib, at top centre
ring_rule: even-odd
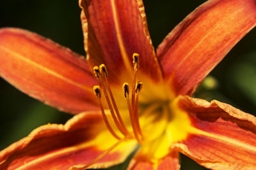
[[[84,49],[91,66],[106,64],[113,81],[120,73],[132,73],[136,52],[140,54],[139,70],[155,80],[161,77],[142,0],[80,0],[79,4]]]

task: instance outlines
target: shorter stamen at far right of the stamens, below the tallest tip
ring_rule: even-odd
[[[139,121],[139,93],[142,89],[143,83],[141,81],[137,82],[136,84],[136,102],[135,102],[135,108],[134,108],[134,118],[135,118],[135,123],[136,123],[136,128],[138,129],[138,132],[140,133],[141,137],[143,138],[143,134],[141,132],[140,128],[140,121]]]

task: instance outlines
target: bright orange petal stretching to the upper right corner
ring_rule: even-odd
[[[255,0],[210,0],[166,36],[157,49],[177,95],[192,95],[221,59],[256,24]]]

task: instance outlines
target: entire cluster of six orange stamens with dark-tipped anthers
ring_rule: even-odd
[[[127,125],[125,125],[124,120],[122,120],[120,112],[118,111],[115,98],[113,96],[113,93],[111,91],[111,88],[108,82],[108,77],[109,77],[108,70],[106,65],[104,64],[93,67],[93,72],[95,74],[95,77],[99,81],[99,86],[94,86],[93,91],[99,101],[100,111],[102,113],[102,118],[104,120],[104,123],[106,124],[106,127],[108,128],[111,135],[113,135],[113,137],[115,137],[118,140],[125,139],[125,138],[134,138],[138,141],[138,143],[142,144],[143,134],[141,132],[139,115],[138,115],[138,100],[139,100],[139,93],[143,86],[143,82],[136,81],[137,71],[140,66],[139,56],[140,55],[137,53],[134,53],[132,55],[134,72],[132,76],[131,91],[130,91],[130,85],[127,82],[124,82],[122,86],[122,89],[124,92],[124,98],[127,102],[127,109],[129,111],[132,132],[130,132],[131,130],[130,131],[128,130]],[[115,123],[116,128],[113,128],[113,125],[109,123],[109,120],[104,111],[104,107],[102,105],[103,95],[106,100],[106,103],[108,104],[108,108],[105,108],[105,109],[109,109],[111,113],[111,118],[113,119],[113,122]]]

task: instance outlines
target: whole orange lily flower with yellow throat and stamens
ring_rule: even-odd
[[[76,114],[0,152],[0,169],[179,169],[179,152],[211,169],[255,169],[256,118],[192,98],[256,24],[255,0],[209,0],[154,51],[142,0],[80,0],[86,59],[49,39],[0,29],[0,75]],[[122,89],[123,88],[123,89]]]

